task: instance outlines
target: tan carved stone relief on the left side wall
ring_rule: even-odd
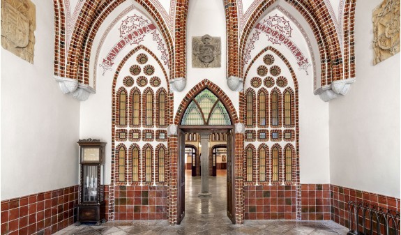
[[[29,0],[1,0],[1,46],[33,63],[36,9]]]

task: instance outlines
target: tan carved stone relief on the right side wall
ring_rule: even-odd
[[[373,10],[372,20],[376,65],[400,52],[400,0],[384,0]]]

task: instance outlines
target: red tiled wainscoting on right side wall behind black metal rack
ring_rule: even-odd
[[[400,212],[400,199],[372,192],[363,192],[338,185],[331,185],[331,220],[348,227],[348,202],[358,201]]]

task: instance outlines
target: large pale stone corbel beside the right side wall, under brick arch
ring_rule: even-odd
[[[319,95],[321,100],[328,102],[340,96],[345,96],[354,82],[355,78],[334,81],[329,86],[323,86],[315,91],[315,95]]]

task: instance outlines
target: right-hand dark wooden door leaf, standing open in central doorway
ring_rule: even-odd
[[[234,132],[227,132],[227,216],[235,224],[235,187],[234,187]]]

